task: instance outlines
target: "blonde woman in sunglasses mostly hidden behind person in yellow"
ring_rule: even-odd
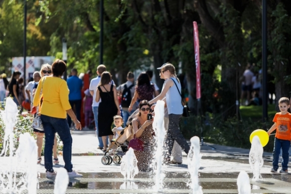
[[[40,77],[45,77],[45,76],[50,76],[52,75],[52,69],[50,64],[42,64],[40,68]],[[38,82],[35,82],[33,85],[33,90],[32,90],[32,96],[34,97],[35,91],[37,89]],[[38,96],[36,96],[38,99]],[[42,102],[42,100],[41,100]],[[43,137],[44,137],[44,131],[38,130],[38,129],[33,129],[33,133],[36,134],[36,145],[37,145],[37,164],[41,164],[41,150],[42,150],[42,145],[43,145]],[[54,144],[52,148],[53,152],[53,164],[58,165],[59,164],[59,159],[58,159],[58,154],[57,154],[57,147],[58,147],[58,142],[57,138],[54,138]]]

